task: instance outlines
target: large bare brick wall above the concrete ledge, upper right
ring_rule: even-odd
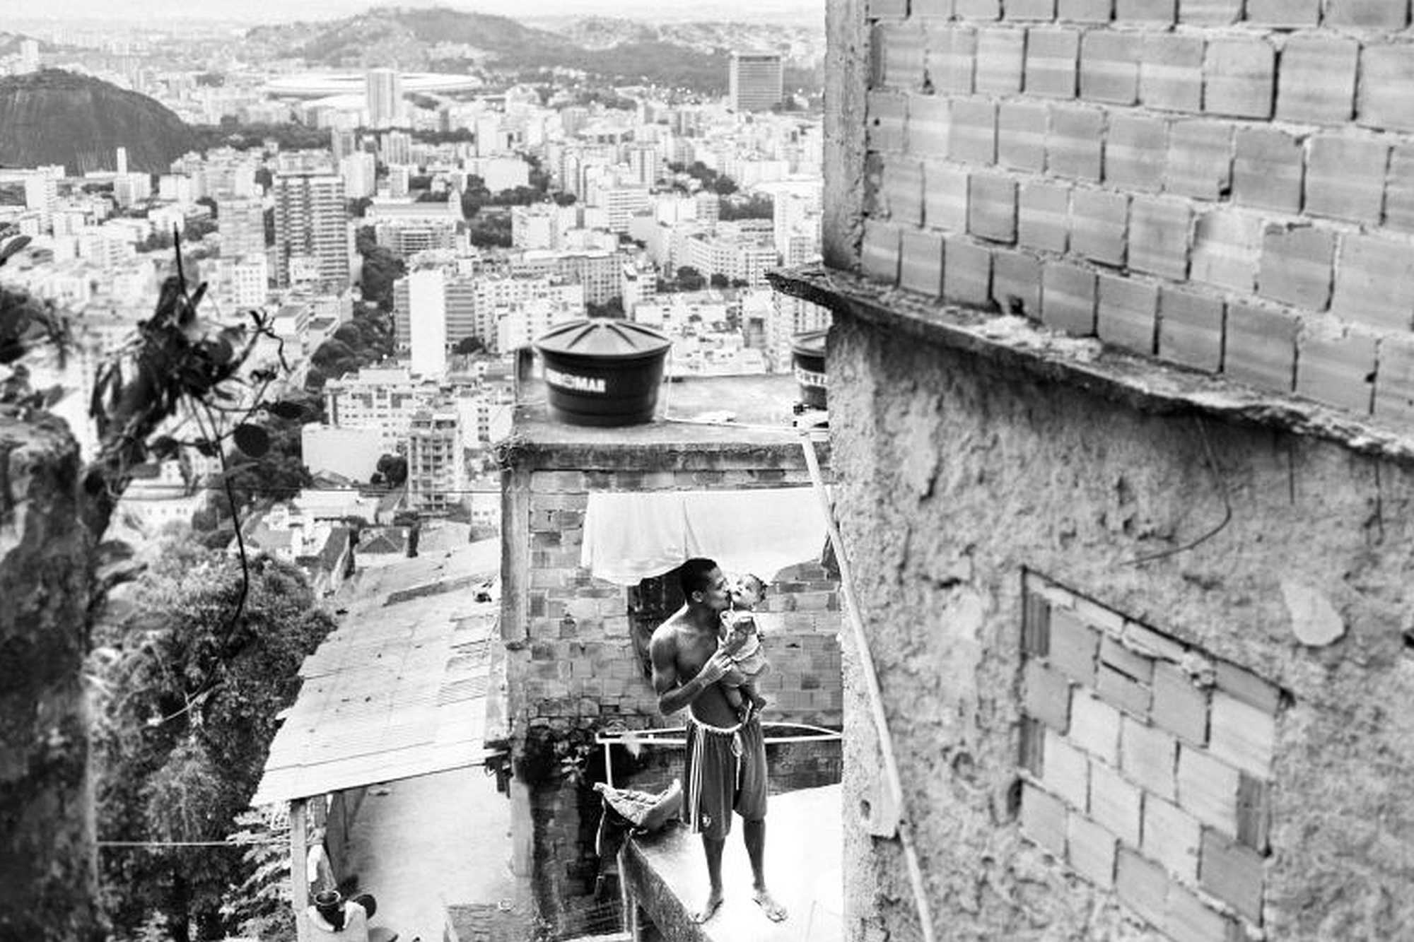
[[[860,262],[1414,420],[1410,0],[865,0]]]

